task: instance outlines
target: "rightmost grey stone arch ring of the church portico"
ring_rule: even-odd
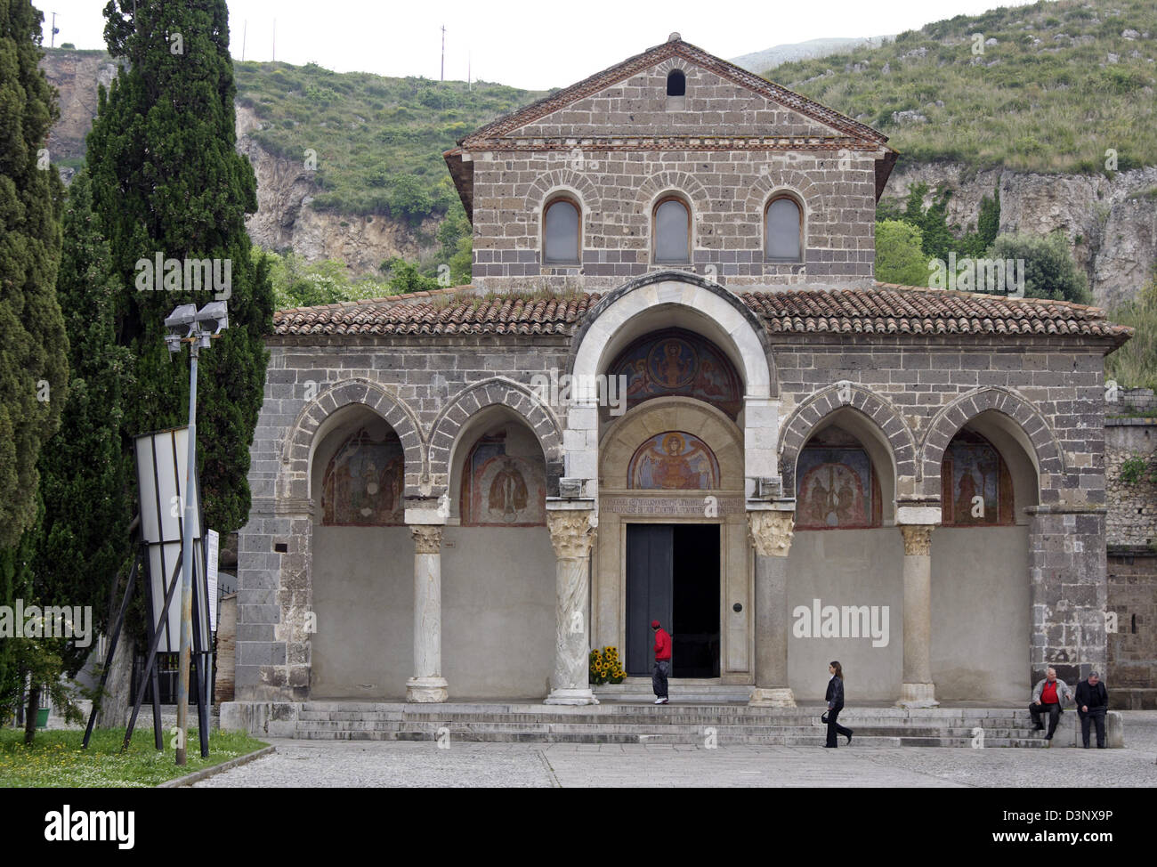
[[[980,419],[980,427],[977,429],[1005,454],[1005,460],[1009,460],[1005,449],[1016,443],[1032,462],[1037,476],[1034,501],[1039,500],[1042,488],[1063,485],[1064,451],[1044,416],[1011,391],[990,387],[961,395],[933,418],[920,447],[922,493],[926,499],[938,500],[941,497],[941,466],[949,442],[957,431],[970,423],[977,424],[981,416],[983,419]],[[1004,448],[1001,442],[1005,443]],[[1018,512],[1020,502],[1024,500],[1018,502]]]

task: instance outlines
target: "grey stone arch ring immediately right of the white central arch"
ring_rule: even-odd
[[[904,417],[879,395],[850,382],[840,382],[804,401],[783,425],[780,472],[783,491],[796,490],[799,451],[817,432],[839,425],[856,436],[877,466],[884,523],[894,521],[896,499],[915,488],[915,439]],[[885,471],[886,470],[886,471]]]

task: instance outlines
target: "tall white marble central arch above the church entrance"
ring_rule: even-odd
[[[702,335],[728,354],[743,379],[744,406],[737,423],[743,429],[746,492],[753,488],[751,479],[776,475],[779,385],[762,323],[717,284],[680,271],[658,271],[603,297],[572,340],[565,475],[584,479],[587,497],[595,497],[598,473],[596,377],[633,340],[668,328]]]

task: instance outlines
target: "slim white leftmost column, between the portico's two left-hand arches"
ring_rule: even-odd
[[[442,677],[442,527],[412,524],[414,537],[414,676],[407,701],[445,701]]]

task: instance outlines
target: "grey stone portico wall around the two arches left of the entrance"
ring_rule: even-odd
[[[312,345],[271,340],[265,402],[250,449],[253,505],[249,523],[238,534],[238,699],[292,696],[301,700],[308,696],[304,615],[312,604],[308,579],[311,505],[304,487],[285,486],[292,473],[282,463],[286,439],[293,435],[302,410],[330,389],[339,395],[338,401],[346,399],[341,395],[348,389],[342,383],[351,382],[374,383],[404,403],[417,416],[421,436],[428,441],[423,453],[441,456],[441,464],[434,463],[433,477],[423,472],[428,468],[411,466],[407,460],[407,505],[422,505],[423,495],[437,497],[439,486],[447,484],[449,449],[437,444],[445,434],[435,434],[432,428],[452,398],[470,385],[495,376],[529,383],[536,372],[550,374],[555,368],[561,374],[568,348],[566,337],[395,337],[389,341],[315,338]],[[366,387],[352,394],[354,398],[359,394],[364,396]],[[511,405],[518,401],[517,395],[481,396],[481,401],[495,398]],[[331,401],[327,405],[336,409],[338,404]],[[474,396],[472,403],[451,414],[465,420],[469,410],[478,407],[479,396]],[[448,418],[447,425],[450,421]],[[447,425],[440,429],[452,429]],[[536,433],[548,441],[547,432],[536,429]],[[303,465],[299,475],[308,476],[308,460],[290,462],[288,466],[296,464]],[[555,480],[561,471],[552,455],[547,455],[547,471]],[[277,550],[278,545],[285,550]]]

